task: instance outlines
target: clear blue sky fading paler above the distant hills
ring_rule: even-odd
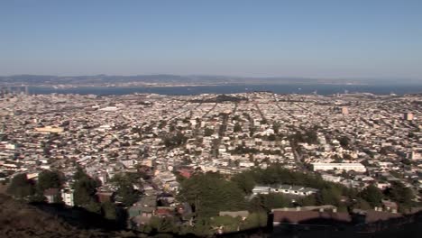
[[[0,75],[158,73],[422,80],[422,1],[0,1]]]

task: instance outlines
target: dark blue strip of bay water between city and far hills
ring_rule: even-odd
[[[422,93],[422,85],[224,85],[196,87],[72,87],[55,89],[53,87],[29,87],[30,94],[79,94],[79,95],[127,95],[149,93],[160,95],[199,95],[199,94],[234,94],[253,91],[271,91],[277,94],[312,94],[332,95],[336,93],[372,93],[375,95],[397,95]]]

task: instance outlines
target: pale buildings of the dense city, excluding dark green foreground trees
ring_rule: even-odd
[[[274,164],[356,191],[369,186],[384,191],[399,182],[418,203],[421,105],[417,95],[357,93],[2,93],[0,181],[6,184],[19,174],[37,181],[42,171],[59,171],[62,185],[42,191],[45,202],[60,197],[66,206],[78,206],[75,174],[81,169],[96,180],[96,200],[124,206],[127,226],[135,229],[153,217],[175,215],[191,224],[194,207],[179,200],[179,193],[182,181],[198,173],[232,178]],[[131,173],[136,176],[124,177]],[[122,185],[125,179],[128,187]],[[123,188],[137,196],[128,199]],[[278,194],[295,206],[320,192],[281,180],[255,184],[248,199]],[[396,206],[386,200],[380,209],[397,213]]]

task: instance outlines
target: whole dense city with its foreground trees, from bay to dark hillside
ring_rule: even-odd
[[[84,207],[141,233],[325,215],[335,227],[363,215],[359,229],[381,230],[371,224],[420,210],[421,105],[418,95],[364,93],[3,91],[0,179],[15,198]]]

